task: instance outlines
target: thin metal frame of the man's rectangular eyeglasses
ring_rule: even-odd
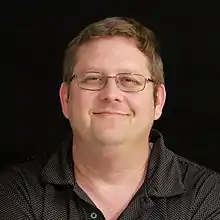
[[[99,74],[100,74],[101,72],[93,72],[93,73],[99,73]],[[88,91],[101,91],[101,90],[104,89],[105,86],[107,85],[108,79],[115,79],[115,84],[116,84],[117,87],[118,87],[121,91],[123,91],[123,92],[141,92],[141,91],[143,91],[143,90],[145,89],[147,82],[151,82],[151,83],[154,83],[154,84],[159,84],[158,81],[153,80],[153,79],[151,79],[151,78],[146,78],[144,75],[141,75],[141,74],[136,74],[136,73],[118,73],[118,74],[116,74],[115,76],[102,76],[103,78],[106,78],[107,80],[105,81],[105,84],[103,85],[103,87],[102,87],[101,89],[85,89],[85,88],[83,88],[83,87],[81,87],[81,86],[79,85],[79,82],[78,82],[78,80],[77,80],[78,74],[80,74],[80,73],[74,73],[74,74],[71,76],[71,78],[70,78],[70,80],[69,80],[69,83],[71,83],[72,80],[75,78],[75,79],[76,79],[77,86],[78,86],[80,89],[84,89],[84,90],[88,90]],[[120,74],[128,74],[128,75],[130,74],[130,75],[137,75],[137,76],[143,77],[143,78],[145,79],[143,88],[140,89],[140,90],[137,90],[137,91],[126,91],[126,90],[121,89],[121,88],[118,86],[118,83],[117,83],[117,81],[116,81],[117,76],[120,75]]]

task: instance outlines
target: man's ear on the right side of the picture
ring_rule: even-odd
[[[157,94],[155,99],[155,114],[154,120],[158,120],[162,115],[163,107],[166,101],[166,89],[163,84],[159,85],[157,88]]]

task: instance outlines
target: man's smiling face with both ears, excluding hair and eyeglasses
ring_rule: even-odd
[[[101,72],[106,76],[118,73],[137,73],[150,78],[148,60],[135,43],[124,37],[91,40],[80,47],[75,73]],[[76,79],[68,89],[62,84],[60,97],[65,117],[70,120],[73,133],[104,145],[132,143],[147,139],[153,121],[162,112],[165,89],[160,86],[154,101],[153,84],[143,91],[124,92],[108,79],[101,91],[88,91],[77,86]]]

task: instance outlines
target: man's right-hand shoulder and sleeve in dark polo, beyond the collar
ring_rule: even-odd
[[[185,195],[192,202],[193,219],[220,218],[220,174],[176,155]]]

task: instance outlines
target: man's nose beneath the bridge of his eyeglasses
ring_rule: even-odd
[[[110,102],[121,102],[123,100],[122,91],[118,88],[115,78],[108,78],[105,87],[99,93],[99,97],[101,100]]]

